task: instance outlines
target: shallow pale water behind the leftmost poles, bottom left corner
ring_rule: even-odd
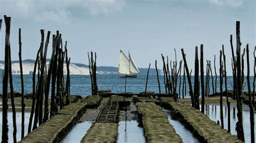
[[[30,117],[30,113],[25,112],[24,136],[26,134],[28,134],[29,117]],[[1,126],[1,128],[2,128],[2,123],[3,123],[2,118],[3,118],[3,112],[0,112],[0,119],[1,119],[0,126]],[[22,118],[22,112],[16,112],[16,126],[17,126],[16,139],[17,139],[17,141],[21,140],[21,120],[22,120],[21,118]],[[14,132],[14,126],[12,124],[12,112],[8,112],[8,128],[9,128],[9,132],[8,132],[9,142],[14,142],[14,138],[13,138],[13,135],[12,135],[12,132]],[[2,131],[0,132],[0,136],[2,137]],[[0,140],[2,140],[2,138]]]

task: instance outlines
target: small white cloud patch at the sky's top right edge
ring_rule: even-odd
[[[220,6],[238,7],[244,4],[242,0],[208,0],[210,3]]]

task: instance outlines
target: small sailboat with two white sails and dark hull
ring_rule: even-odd
[[[120,76],[124,78],[136,78],[136,74],[139,74],[139,70],[133,62],[130,52],[128,59],[124,52],[120,50],[118,73],[125,74],[125,76]]]

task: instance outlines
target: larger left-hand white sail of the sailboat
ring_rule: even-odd
[[[119,74],[131,74],[129,59],[126,57],[126,55],[123,53],[122,50],[120,51],[120,56],[119,56],[118,73]]]

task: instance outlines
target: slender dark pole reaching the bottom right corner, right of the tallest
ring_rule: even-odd
[[[250,106],[250,121],[251,121],[251,142],[255,142],[254,137],[254,108],[252,105],[251,98],[251,86],[250,86],[250,58],[249,58],[249,45],[246,45],[246,55],[247,55],[247,86],[248,86],[248,95],[249,95],[249,106]],[[255,72],[255,71],[254,71]]]

